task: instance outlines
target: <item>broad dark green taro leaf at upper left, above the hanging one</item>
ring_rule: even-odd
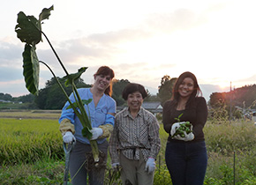
[[[34,16],[26,16],[23,11],[20,11],[17,22],[15,32],[20,41],[34,46],[41,41],[41,23]]]

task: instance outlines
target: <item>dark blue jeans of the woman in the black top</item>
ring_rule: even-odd
[[[173,185],[203,185],[207,171],[205,141],[168,141],[165,161]]]

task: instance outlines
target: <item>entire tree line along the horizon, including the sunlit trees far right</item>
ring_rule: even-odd
[[[72,86],[65,86],[64,78],[58,79],[64,86],[65,91],[68,94],[71,94]],[[148,97],[145,101],[160,101],[163,105],[166,100],[171,98],[172,89],[176,80],[177,78],[170,78],[169,75],[163,76],[160,85],[158,86],[158,93],[153,95],[147,91]],[[128,79],[113,80],[112,98],[117,101],[117,106],[125,105],[126,102],[122,98],[122,92],[124,86],[129,83],[130,81]],[[75,84],[78,88],[92,86],[86,84],[82,78],[76,80]],[[29,107],[40,109],[61,109],[66,101],[64,93],[59,91],[59,86],[57,85],[55,78],[51,78],[46,82],[45,87],[39,91],[38,96],[27,94],[13,98],[11,97],[11,94],[0,93],[0,100],[21,101],[23,103],[29,103]],[[233,115],[236,114],[236,107],[247,109],[256,108],[256,85],[245,85],[227,93],[212,93],[207,104],[208,107],[212,108],[224,107],[227,110],[227,114],[230,112],[231,107]]]

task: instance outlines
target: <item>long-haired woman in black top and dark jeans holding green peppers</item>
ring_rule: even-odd
[[[163,106],[162,122],[169,133],[165,160],[173,185],[204,182],[207,149],[203,128],[207,122],[207,103],[200,94],[197,78],[191,72],[184,72],[177,78],[171,100]],[[192,124],[192,133],[174,137],[182,122]]]

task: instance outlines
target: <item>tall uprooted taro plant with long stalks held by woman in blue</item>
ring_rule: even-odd
[[[23,76],[25,78],[26,82],[26,89],[34,94],[37,95],[39,90],[39,71],[40,71],[40,64],[44,64],[52,73],[54,78],[56,79],[57,84],[61,88],[62,92],[64,93],[66,99],[70,103],[74,113],[79,117],[79,121],[83,125],[82,135],[83,137],[87,137],[90,141],[90,144],[92,146],[92,152],[94,156],[94,163],[97,164],[99,162],[99,150],[98,145],[95,140],[90,140],[92,137],[91,133],[91,121],[89,117],[87,116],[86,109],[84,105],[87,105],[90,103],[91,100],[81,100],[79,93],[77,91],[77,87],[74,84],[74,80],[78,79],[83,72],[87,70],[87,67],[82,67],[78,70],[77,73],[69,74],[68,71],[64,67],[64,63],[61,62],[60,58],[56,54],[56,50],[51,45],[48,37],[45,33],[41,31],[41,24],[42,20],[49,19],[50,11],[53,11],[53,5],[49,7],[49,9],[44,8],[39,18],[34,18],[34,16],[26,16],[26,14],[23,11],[20,11],[18,13],[18,24],[15,26],[15,32],[17,33],[17,37],[20,41],[25,42],[25,48],[24,52],[22,53],[23,56]],[[53,70],[50,69],[49,65],[47,63],[44,63],[43,61],[39,61],[37,55],[36,55],[36,45],[41,41],[41,36],[44,36],[45,39],[48,41],[50,48],[56,55],[56,59],[58,63],[63,68],[66,76],[65,85],[72,85],[73,94],[75,97],[75,102],[72,103],[72,101],[69,99],[68,94],[64,91],[63,86],[56,78]]]

